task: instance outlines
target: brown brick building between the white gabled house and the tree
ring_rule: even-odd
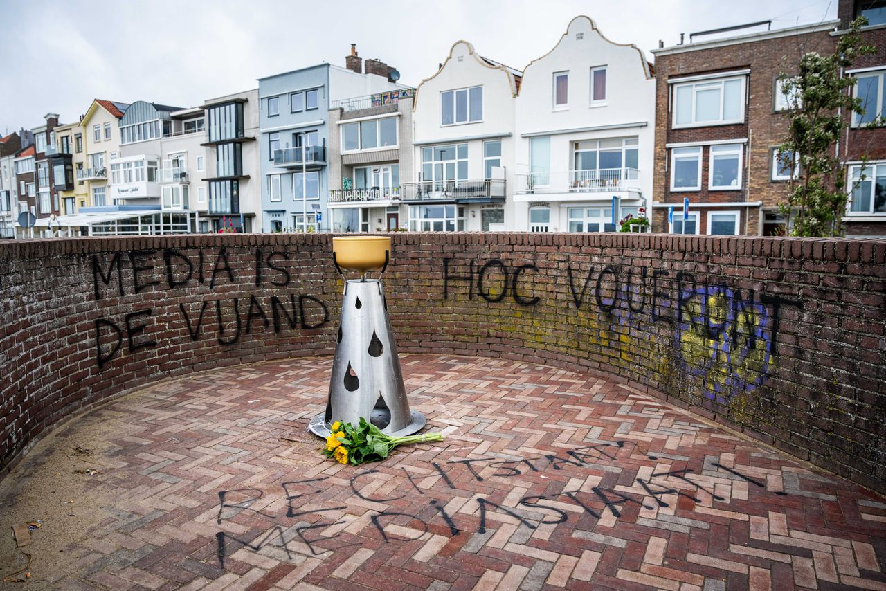
[[[839,24],[734,35],[652,51],[656,56],[653,228],[684,233],[769,235],[783,229],[778,204],[790,171],[777,146],[787,133],[782,68],[806,51],[832,51]],[[672,222],[668,209],[674,208]]]

